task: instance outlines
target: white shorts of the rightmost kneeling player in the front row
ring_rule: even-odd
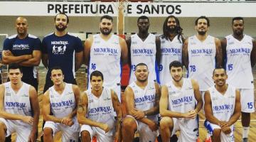
[[[206,129],[210,132],[210,134],[212,135],[213,134],[213,130],[214,129],[221,129],[220,126],[218,125],[215,125],[215,124],[211,124],[209,121],[206,121],[205,122],[206,124]],[[220,141],[221,142],[235,142],[234,140],[234,126],[230,126],[230,129],[231,129],[231,133],[229,133],[228,135],[226,135],[225,133],[223,133],[221,131],[220,133]]]

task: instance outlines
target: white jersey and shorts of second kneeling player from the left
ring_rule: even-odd
[[[55,91],[54,86],[49,88],[50,111],[56,118],[63,118],[71,114],[75,109],[75,94],[72,84],[65,83],[65,89],[62,94]],[[65,126],[64,124],[46,121],[43,129],[50,128],[53,130],[53,136],[58,131],[62,131],[62,141],[76,142],[79,138],[80,126],[77,117],[73,117],[74,124]]]

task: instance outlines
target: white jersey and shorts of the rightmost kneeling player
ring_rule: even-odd
[[[230,117],[234,114],[235,109],[235,87],[228,85],[228,89],[225,94],[220,94],[215,87],[210,87],[210,99],[213,110],[213,116],[220,121],[229,121]],[[214,129],[221,129],[220,126],[216,124],[211,124],[209,121],[205,122],[206,129],[213,133]],[[234,126],[230,126],[231,133],[226,135],[225,133],[220,133],[221,142],[233,142],[234,140]]]

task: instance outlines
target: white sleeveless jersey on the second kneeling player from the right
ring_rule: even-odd
[[[196,109],[196,98],[192,86],[191,79],[183,78],[183,84],[181,89],[178,89],[172,81],[166,84],[168,88],[168,109],[170,111],[176,111],[186,113],[188,111]],[[188,129],[198,128],[198,120],[178,118],[183,123],[187,123]]]

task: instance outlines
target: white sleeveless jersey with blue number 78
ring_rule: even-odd
[[[208,35],[203,42],[196,35],[188,38],[188,77],[198,81],[200,91],[213,86],[216,46],[213,36]]]

